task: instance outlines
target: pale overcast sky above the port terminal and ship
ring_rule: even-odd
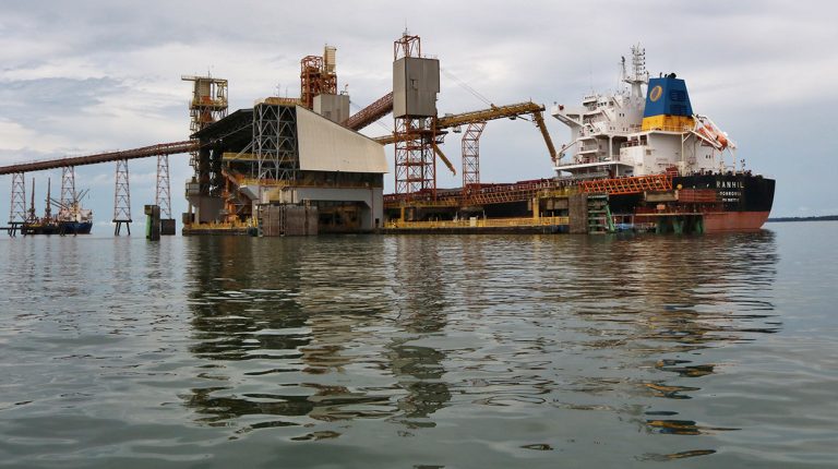
[[[407,27],[441,61],[441,113],[486,107],[451,76],[499,105],[576,105],[614,89],[620,57],[639,41],[649,72],[685,79],[694,111],[729,133],[747,167],[777,179],[774,216],[838,214],[836,17],[833,1],[0,0],[0,165],[185,140],[182,74],[229,80],[232,111],[277,91],[299,96],[300,59],[325,44],[337,47],[340,88],[363,107],[390,91],[393,40]],[[567,129],[547,119],[556,146],[565,143]],[[386,133],[392,117],[382,123],[364,133]],[[480,145],[483,182],[552,176],[529,122],[490,122]],[[443,147],[457,167],[459,148],[458,135]],[[386,154],[392,166],[393,148]],[[156,159],[129,166],[142,220]],[[113,171],[76,168],[99,232],[112,218]],[[171,157],[178,219],[191,173],[188,156]],[[439,187],[459,185],[444,166],[438,173]],[[43,212],[47,178],[57,196],[60,171],[27,175],[27,191],[33,176]],[[393,175],[385,181],[392,192]],[[0,177],[0,211],[10,185]]]

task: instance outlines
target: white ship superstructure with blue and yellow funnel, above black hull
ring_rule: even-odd
[[[553,106],[554,118],[571,128],[561,147],[558,175],[576,179],[681,176],[723,171],[726,149],[735,147],[707,117],[694,115],[683,80],[649,80],[646,53],[632,47],[632,70],[622,61],[623,82],[614,94],[585,96],[582,107]],[[648,93],[647,93],[648,92]],[[644,96],[645,95],[645,96]],[[735,165],[735,156],[731,156]]]

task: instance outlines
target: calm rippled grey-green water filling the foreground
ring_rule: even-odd
[[[835,467],[836,236],[1,239],[0,465]]]

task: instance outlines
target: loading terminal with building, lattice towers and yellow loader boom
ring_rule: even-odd
[[[392,92],[352,116],[349,95],[337,91],[335,59],[336,48],[326,46],[323,56],[300,61],[299,98],[267,97],[251,109],[219,112],[217,120],[213,112],[226,103],[222,85],[212,77],[184,77],[194,82],[192,139],[197,148],[195,175],[187,182],[184,234],[391,232],[456,218],[466,213],[460,211],[464,200],[452,203],[451,190],[436,189],[438,159],[457,172],[440,148],[450,132],[466,128],[459,193],[504,197],[519,190],[480,184],[479,139],[494,119],[531,119],[555,157],[542,105],[492,104],[439,116],[440,61],[422,55],[419,36],[406,32],[394,41]],[[370,139],[358,132],[391,112],[391,134]],[[396,192],[385,196],[384,175],[391,168],[384,146],[391,144]],[[503,227],[541,229],[561,221],[525,216]]]

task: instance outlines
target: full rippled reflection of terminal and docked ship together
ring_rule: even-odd
[[[781,327],[763,300],[778,262],[768,231],[187,245],[205,386],[182,398],[231,437],[459,425],[531,450],[585,445],[601,430],[589,440],[645,435],[639,459],[709,455],[713,436],[737,425],[707,410],[719,389],[706,386],[735,382],[737,350]],[[484,434],[519,417],[546,426]]]

